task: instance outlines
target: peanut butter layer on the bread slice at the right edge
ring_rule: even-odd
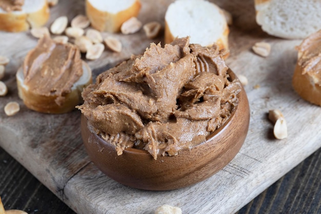
[[[304,39],[296,50],[302,74],[309,75],[315,84],[321,85],[321,31]]]

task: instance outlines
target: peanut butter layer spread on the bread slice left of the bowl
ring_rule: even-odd
[[[83,75],[81,54],[71,44],[55,42],[48,35],[26,56],[23,64],[24,84],[34,94],[56,96],[61,106],[73,84]]]

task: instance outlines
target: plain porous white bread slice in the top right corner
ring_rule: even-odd
[[[256,22],[270,35],[302,39],[321,29],[319,0],[255,0]]]

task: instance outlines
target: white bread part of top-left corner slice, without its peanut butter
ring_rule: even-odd
[[[0,8],[0,31],[20,32],[40,27],[49,19],[46,0],[25,0],[21,11],[7,12]]]

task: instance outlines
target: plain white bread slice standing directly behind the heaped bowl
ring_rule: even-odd
[[[191,44],[228,50],[229,28],[224,12],[205,0],[178,0],[165,14],[165,43],[175,37],[190,36]]]

